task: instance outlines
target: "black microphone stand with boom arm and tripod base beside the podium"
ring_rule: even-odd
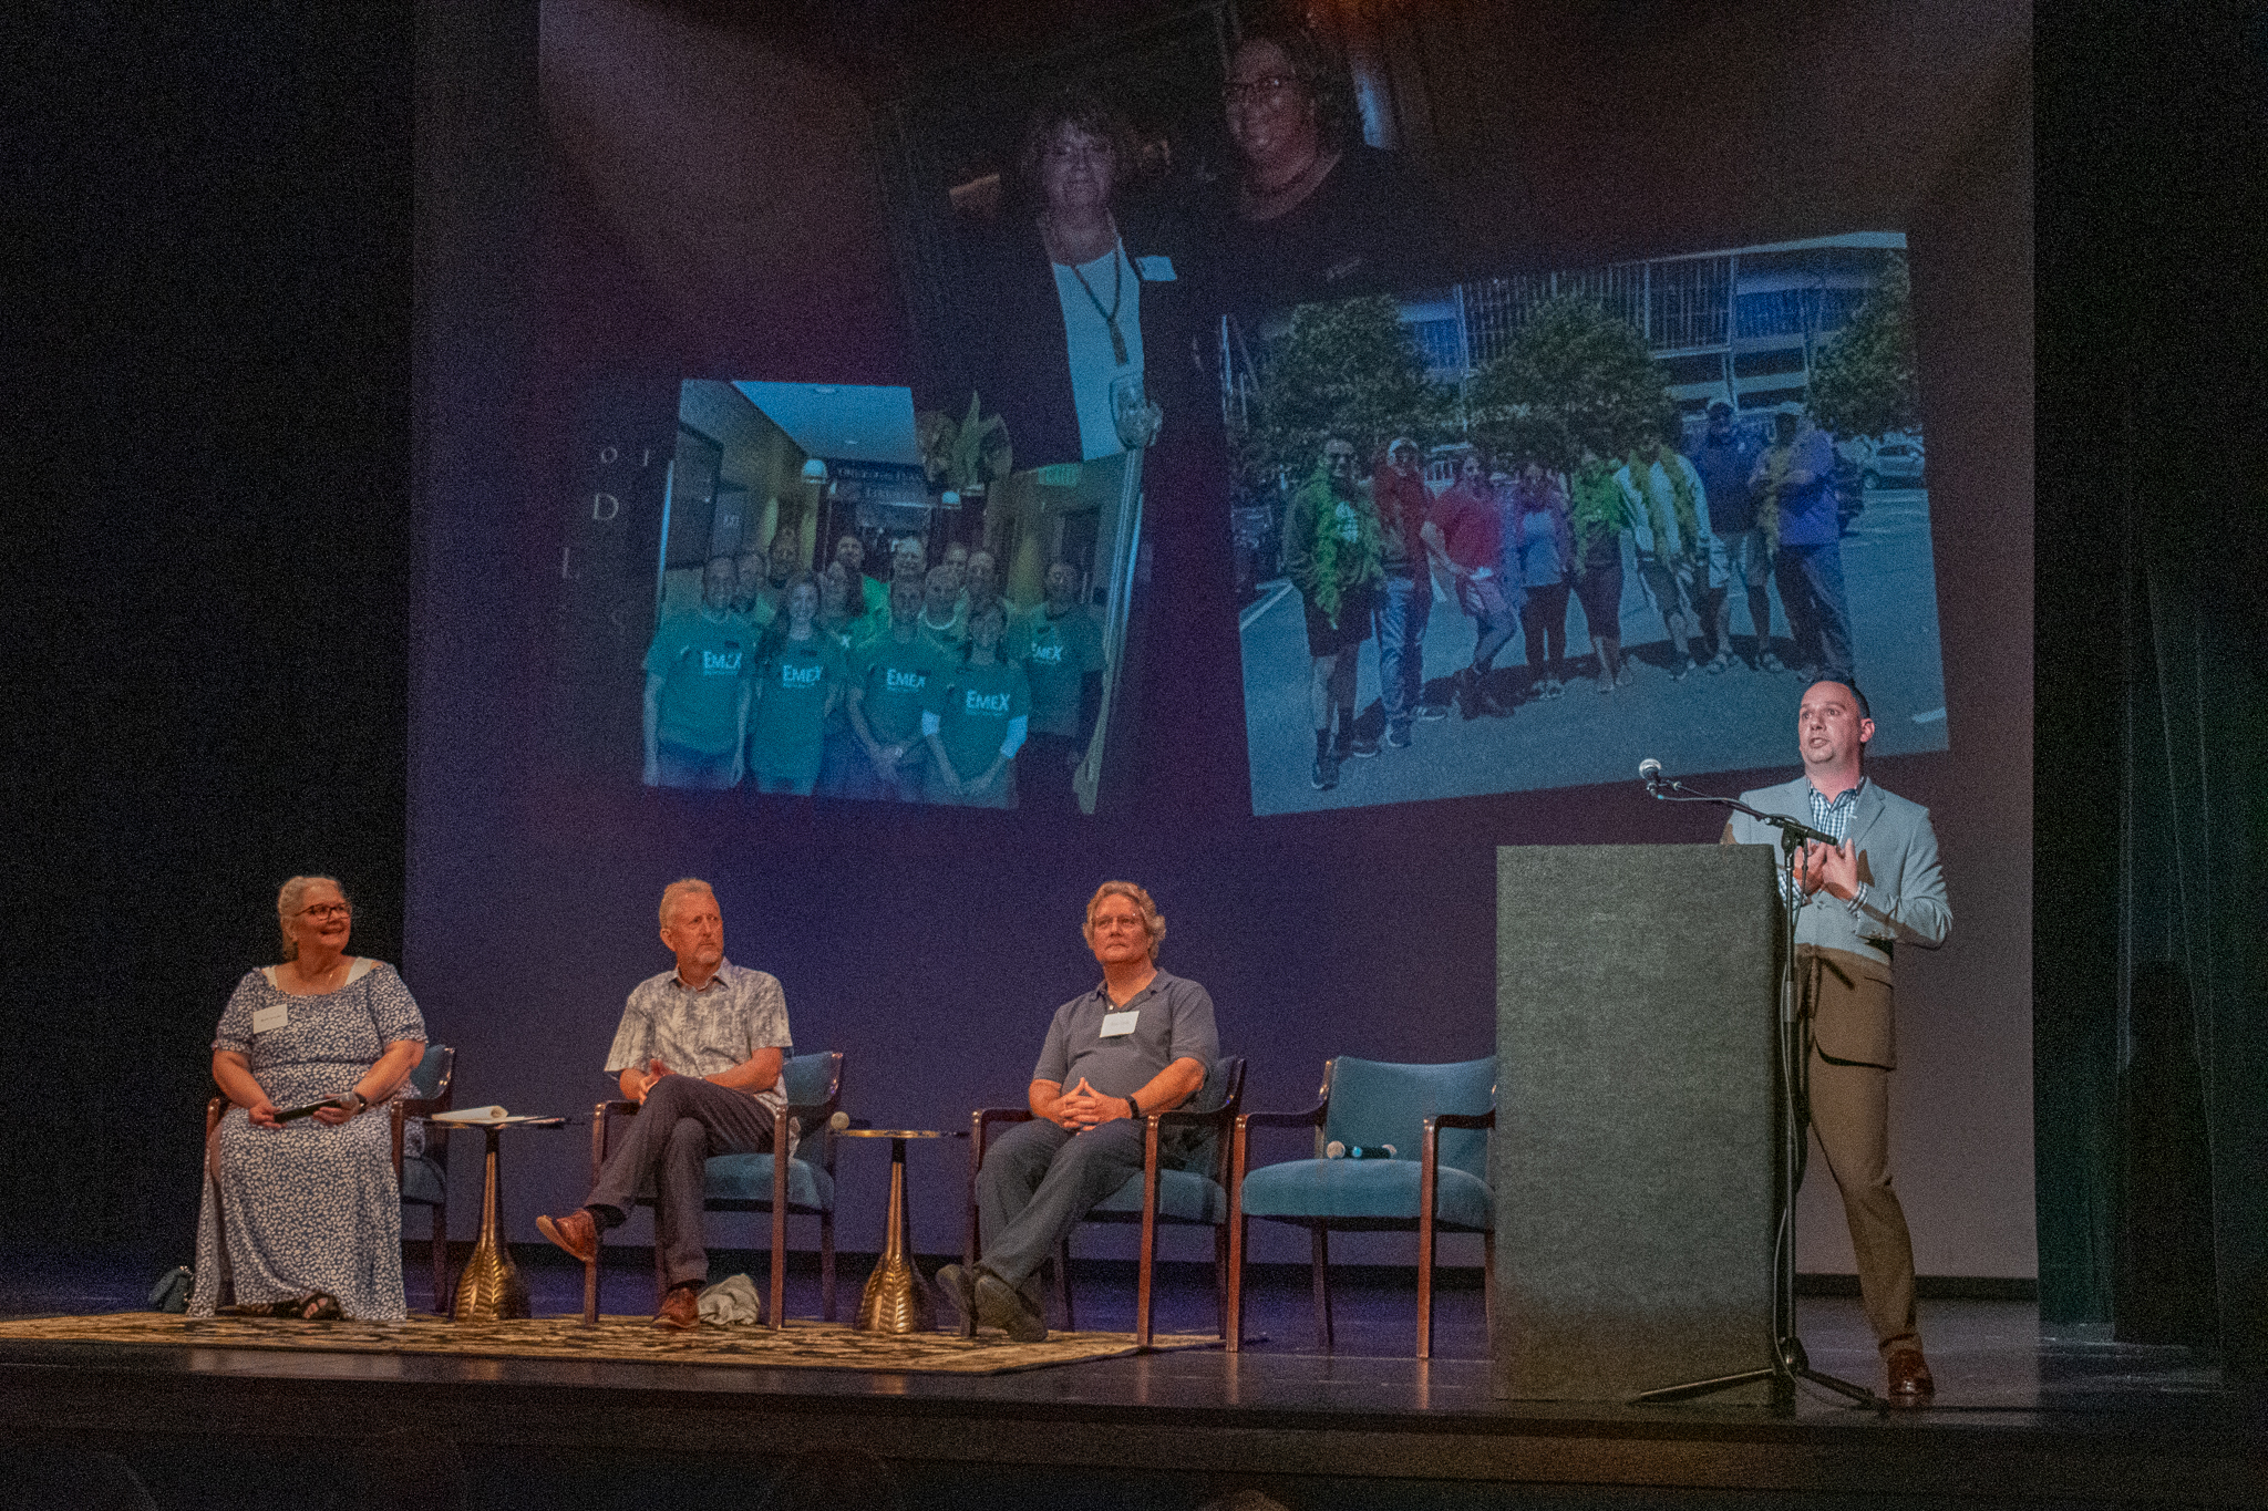
[[[1783,874],[1796,870],[1808,840],[1819,845],[1835,843],[1819,829],[1812,829],[1794,818],[1758,813],[1737,797],[1696,793],[1683,782],[1662,782],[1658,775],[1647,777],[1647,795],[1656,802],[1710,802],[1719,809],[1746,813],[1762,825],[1771,825],[1780,831]],[[1780,886],[1780,1033],[1778,1065],[1774,1067],[1780,1087],[1778,1108],[1774,1108],[1778,1112],[1780,1162],[1774,1180],[1778,1237],[1771,1246],[1771,1364],[1765,1368],[1742,1371],[1737,1375],[1665,1384],[1656,1391],[1644,1391],[1642,1395],[1631,1398],[1631,1405],[1692,1400],[1696,1395],[1715,1395],[1717,1391],[1730,1391],[1742,1384],[1769,1380],[1771,1405],[1787,1411],[1796,1405],[1796,1380],[1810,1380],[1817,1386],[1848,1395],[1860,1407],[1873,1407],[1882,1414],[1889,1411],[1889,1402],[1867,1386],[1851,1384],[1848,1380],[1812,1368],[1810,1355],[1803,1352],[1803,1339],[1796,1337],[1796,1187],[1803,1185],[1803,1164],[1810,1153],[1810,1146],[1805,1144],[1810,1135],[1810,1112],[1803,1094],[1796,1090],[1799,1076],[1803,1076],[1803,1022],[1796,1013],[1796,908],[1789,906],[1785,881]]]

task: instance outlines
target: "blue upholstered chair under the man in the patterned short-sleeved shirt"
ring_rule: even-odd
[[[835,1321],[835,1124],[844,1094],[841,1051],[794,1056],[780,1065],[780,1092],[787,1105],[778,1112],[771,1146],[780,1149],[789,1139],[789,1124],[798,1128],[796,1153],[773,1160],[771,1153],[717,1155],[703,1169],[703,1212],[769,1212],[771,1214],[771,1296],[767,1316],[773,1328],[785,1328],[787,1300],[787,1219],[819,1219],[819,1312]],[[635,1101],[601,1101],[590,1126],[590,1178],[599,1180],[606,1164],[608,1128],[617,1119],[635,1117]],[[653,1205],[653,1189],[637,1194],[637,1205]],[[601,1244],[601,1253],[603,1253]],[[653,1287],[662,1291],[662,1250],[653,1248]],[[583,1321],[599,1321],[599,1260],[583,1266]]]

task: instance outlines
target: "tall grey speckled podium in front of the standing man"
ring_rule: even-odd
[[[1771,886],[1762,845],[1497,850],[1497,1395],[1771,1366]]]

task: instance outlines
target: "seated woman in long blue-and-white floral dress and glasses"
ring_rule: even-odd
[[[213,1035],[213,1081],[234,1105],[204,1151],[188,1314],[234,1298],[247,1314],[399,1321],[383,1103],[424,1058],[424,1017],[392,965],[347,954],[354,908],[331,877],[286,881],[277,924],[284,963],[236,983]]]

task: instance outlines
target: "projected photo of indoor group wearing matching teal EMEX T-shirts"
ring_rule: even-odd
[[[687,381],[644,784],[1091,813],[1125,467],[1012,462],[998,421],[905,387]]]

